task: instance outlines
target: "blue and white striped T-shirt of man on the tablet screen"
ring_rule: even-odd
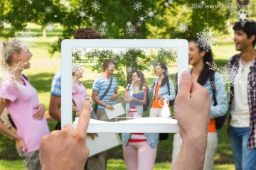
[[[97,79],[95,79],[92,85],[92,91],[98,92],[97,98],[100,98],[101,96],[103,96],[103,94],[107,90],[107,87],[110,85],[110,79],[111,77],[109,79],[106,79],[103,76],[99,76]],[[111,106],[114,106],[116,104],[116,101],[109,101],[108,99],[110,98],[110,96],[112,96],[112,94],[114,94],[114,89],[116,88],[117,88],[117,79],[113,77],[110,90],[108,91],[107,95],[104,98],[102,98],[102,101],[110,104]],[[103,110],[105,108],[106,108],[105,106],[102,106],[100,104],[98,106],[98,109]]]

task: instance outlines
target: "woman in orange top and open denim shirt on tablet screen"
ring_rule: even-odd
[[[153,81],[153,86],[149,90],[149,93],[153,96],[152,107],[150,108],[149,116],[150,117],[170,117],[171,110],[168,104],[166,109],[169,113],[162,113],[164,106],[164,101],[174,100],[176,94],[174,89],[174,83],[169,79],[168,68],[165,64],[156,65],[156,76],[158,76]],[[169,116],[168,116],[169,115]]]

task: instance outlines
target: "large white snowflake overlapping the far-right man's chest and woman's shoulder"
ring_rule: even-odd
[[[208,86],[207,89],[215,89],[215,84],[224,84],[227,89],[226,95],[228,101],[230,101],[230,96],[234,96],[234,94],[230,90],[230,87],[235,86],[235,84],[242,84],[242,87],[244,89],[251,89],[247,81],[241,81],[240,74],[238,74],[238,69],[234,65],[232,66],[230,62],[228,64],[225,64],[225,66],[221,68],[218,68],[215,62],[206,62],[206,64],[208,64],[208,66],[210,67],[209,69],[215,70],[220,74],[220,77],[217,77],[214,82],[210,82],[210,86]],[[246,67],[248,64],[244,64],[243,67]]]

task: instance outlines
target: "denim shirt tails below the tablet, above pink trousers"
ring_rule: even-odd
[[[156,147],[159,142],[159,133],[144,133],[146,137],[146,141],[149,143],[150,147]],[[131,133],[122,133],[122,142],[124,145],[127,145],[129,142],[129,138],[131,137]]]

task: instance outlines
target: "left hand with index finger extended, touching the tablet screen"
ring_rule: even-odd
[[[90,121],[90,102],[82,102],[82,113],[77,128],[65,125],[42,138],[40,162],[42,169],[82,169],[89,156],[86,145]]]

